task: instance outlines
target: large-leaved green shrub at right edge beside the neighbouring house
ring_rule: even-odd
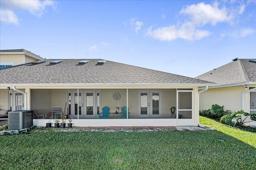
[[[243,120],[242,120],[242,115],[245,115],[245,118]],[[244,123],[251,122],[251,121],[244,122],[248,116],[250,116],[251,121],[256,121],[256,113],[250,114],[241,110],[241,111],[234,111],[232,114],[222,116],[220,119],[220,122],[224,122],[232,126],[242,126]]]

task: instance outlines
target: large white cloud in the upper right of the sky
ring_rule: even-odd
[[[237,10],[239,7],[239,10]],[[186,6],[180,10],[179,14],[185,16],[181,23],[172,24],[166,27],[158,27],[152,30],[152,26],[148,29],[146,36],[153,37],[159,41],[173,41],[181,38],[189,41],[200,40],[210,36],[212,33],[208,30],[199,29],[206,24],[216,25],[220,22],[232,24],[234,18],[238,14],[244,12],[245,6],[239,4],[234,8],[219,7],[218,2],[213,4],[205,4],[204,2]]]

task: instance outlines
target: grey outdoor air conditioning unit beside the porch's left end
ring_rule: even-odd
[[[8,112],[8,130],[20,130],[32,126],[32,110],[18,110]]]

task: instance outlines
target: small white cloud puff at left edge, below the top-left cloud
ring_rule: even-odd
[[[18,18],[11,10],[0,9],[0,21],[8,24],[18,25]]]

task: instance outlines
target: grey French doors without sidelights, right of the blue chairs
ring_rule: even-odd
[[[138,90],[138,117],[162,117],[162,91]]]

